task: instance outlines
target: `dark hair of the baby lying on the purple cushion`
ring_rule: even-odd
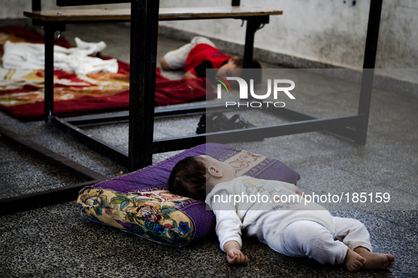
[[[200,157],[185,157],[171,171],[168,189],[176,194],[197,200],[206,199],[206,164]]]

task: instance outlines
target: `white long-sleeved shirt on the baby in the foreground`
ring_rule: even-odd
[[[242,231],[245,236],[256,236],[267,244],[272,238],[282,243],[282,231],[296,220],[318,222],[331,233],[335,229],[334,220],[325,207],[305,202],[296,194],[296,186],[282,181],[240,176],[217,184],[207,195],[206,203],[216,216],[216,235],[221,250],[228,241],[237,241],[242,246]],[[280,246],[276,251],[286,253],[282,244]]]

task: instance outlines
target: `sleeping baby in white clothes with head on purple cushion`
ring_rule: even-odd
[[[256,236],[281,254],[344,264],[352,272],[390,270],[395,262],[393,255],[372,252],[364,224],[332,217],[317,203],[301,202],[306,196],[291,183],[237,178],[230,164],[202,155],[178,162],[168,185],[175,194],[205,200],[213,210],[216,235],[231,264],[248,262],[240,251],[242,234]]]

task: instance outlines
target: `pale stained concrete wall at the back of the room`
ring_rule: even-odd
[[[0,0],[0,19],[21,18],[30,0]],[[42,8],[57,9],[56,0],[43,0]],[[231,0],[161,0],[161,7],[229,6]],[[257,31],[255,47],[345,68],[361,68],[370,0],[262,0],[257,4],[284,11],[270,17]],[[241,0],[242,5],[255,4]],[[129,4],[107,5],[129,8]],[[83,6],[82,8],[93,8]],[[227,42],[243,44],[245,28],[240,20],[193,20],[160,23]],[[400,80],[417,83],[418,1],[383,0],[376,68]],[[397,70],[392,70],[396,68]]]

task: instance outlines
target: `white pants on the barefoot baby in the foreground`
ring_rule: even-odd
[[[325,226],[310,220],[298,220],[283,231],[283,246],[295,257],[308,257],[321,264],[344,263],[348,248],[359,246],[372,251],[366,226],[356,219],[333,217],[335,235]]]

